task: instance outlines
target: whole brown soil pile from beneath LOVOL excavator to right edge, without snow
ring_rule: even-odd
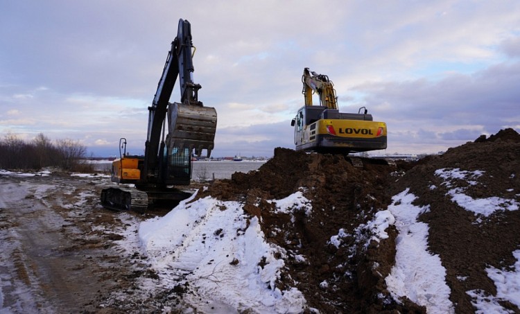
[[[214,182],[199,197],[238,200],[245,211],[259,217],[267,241],[284,247],[289,256],[278,286],[298,288],[310,308],[320,313],[425,313],[424,307],[406,298],[397,304],[386,290],[384,279],[395,263],[395,227],[390,226],[389,238],[379,243],[371,241],[367,227],[374,213],[390,204],[392,195],[410,188],[417,196],[415,204],[430,206],[419,220],[430,227],[430,252],[439,254],[447,269],[456,313],[472,313],[476,308],[468,291],[496,295],[486,268],[502,269],[516,261],[512,252],[520,245],[520,211],[476,214],[454,202],[449,191],[458,187],[474,200],[497,197],[518,202],[519,157],[520,135],[512,129],[479,137],[438,157],[398,162],[397,168],[365,163],[361,169],[340,155],[276,148],[275,156],[259,171]],[[474,184],[463,180],[447,184],[437,171],[455,168],[482,174]],[[311,211],[282,213],[269,201],[298,191],[309,200]],[[499,303],[519,311],[510,302]]]

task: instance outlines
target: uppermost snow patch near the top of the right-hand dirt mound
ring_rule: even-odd
[[[469,185],[476,185],[478,182],[470,179],[478,179],[484,171],[462,171],[460,168],[448,169],[442,168],[435,171],[435,175],[442,177],[445,181],[443,184],[450,188],[453,186],[453,180],[465,180]],[[516,211],[519,209],[519,202],[507,198],[499,198],[496,196],[490,198],[471,198],[463,193],[465,187],[456,187],[450,189],[447,195],[451,196],[451,201],[456,202],[458,206],[472,211],[476,215],[489,216],[500,210]]]

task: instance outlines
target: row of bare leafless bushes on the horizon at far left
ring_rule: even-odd
[[[8,133],[0,139],[0,168],[39,170],[45,167],[64,171],[82,171],[86,146],[72,139],[51,141],[43,133],[31,141],[24,141],[16,134]]]

